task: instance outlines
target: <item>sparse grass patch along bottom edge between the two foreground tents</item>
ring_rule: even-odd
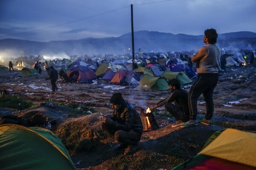
[[[148,153],[143,157],[119,155],[111,159],[115,170],[157,170],[172,169],[184,162],[183,159],[160,153]]]

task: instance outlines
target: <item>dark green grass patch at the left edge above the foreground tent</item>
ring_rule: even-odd
[[[0,106],[4,108],[17,109],[19,111],[31,108],[34,104],[16,96],[0,96]]]

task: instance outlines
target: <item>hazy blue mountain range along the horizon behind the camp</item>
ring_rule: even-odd
[[[249,31],[219,34],[218,46],[224,49],[256,49],[256,33]],[[134,51],[143,52],[191,51],[198,50],[203,43],[203,35],[171,34],[157,31],[134,32]],[[67,55],[124,54],[131,53],[131,33],[120,37],[85,38],[80,40],[36,42],[28,40],[0,40],[0,50],[9,55],[24,51],[25,55],[52,55],[65,52]],[[125,50],[125,51],[124,51]]]

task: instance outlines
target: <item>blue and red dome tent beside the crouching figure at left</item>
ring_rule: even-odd
[[[73,76],[76,77],[75,81],[80,83],[88,82],[97,78],[96,74],[89,67],[81,65],[77,65],[76,67],[71,68],[67,73],[67,77],[69,77],[69,79]]]

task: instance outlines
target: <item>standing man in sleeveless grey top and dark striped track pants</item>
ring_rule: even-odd
[[[190,127],[198,124],[196,120],[198,110],[198,97],[203,94],[206,102],[205,119],[201,121],[204,125],[212,124],[212,113],[214,111],[213,91],[218,82],[218,64],[221,58],[220,48],[216,45],[218,34],[215,29],[204,31],[204,43],[199,51],[192,57],[192,62],[196,62],[196,71],[198,73],[195,82],[189,90],[189,121],[180,127]]]

